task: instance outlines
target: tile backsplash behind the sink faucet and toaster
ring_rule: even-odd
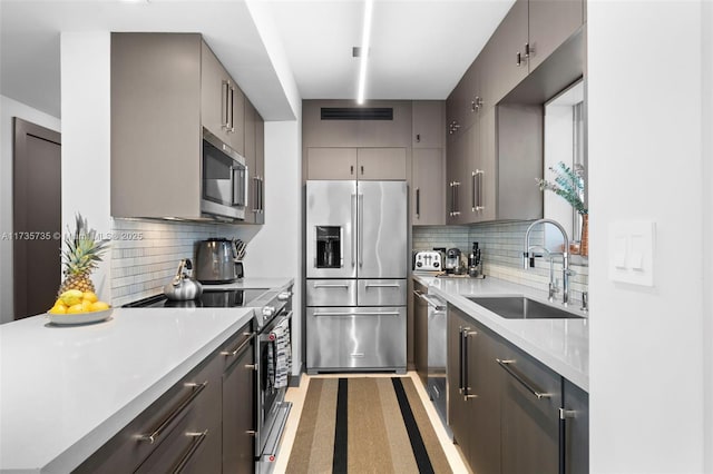
[[[529,221],[488,223],[471,226],[427,226],[413,227],[413,250],[430,250],[433,247],[457,247],[467,256],[477,241],[482,250],[484,271],[487,276],[505,279],[537,289],[547,289],[549,263],[545,258],[535,259],[535,268],[522,268],[522,240]],[[530,244],[541,243],[543,231],[534,229]],[[467,257],[465,257],[467,258]],[[589,267],[580,257],[574,256],[569,265],[576,275],[570,277],[572,297],[582,299],[587,292]],[[555,277],[560,280],[561,260],[555,259]]]

